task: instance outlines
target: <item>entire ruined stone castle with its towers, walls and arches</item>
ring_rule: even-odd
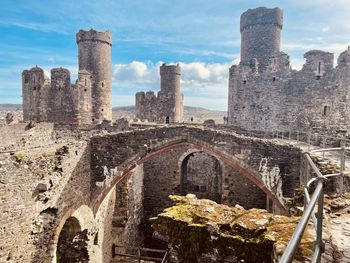
[[[309,210],[301,209],[306,203],[301,190],[310,178],[325,184],[328,194],[324,211],[319,204],[314,215],[324,220],[317,226],[325,230],[324,238],[321,235],[314,242],[315,250],[324,250],[322,262],[349,262],[350,163],[345,162],[345,150],[350,148],[344,147],[349,136],[308,137],[298,132],[294,138],[276,139],[274,133],[242,131],[347,128],[350,51],[340,55],[335,68],[333,54],[310,51],[304,67],[292,70],[288,55],[280,51],[282,25],[278,8],[257,8],[242,15],[241,63],[230,68],[231,127],[213,121],[202,126],[140,122],[110,126],[112,40],[108,32],[77,34],[75,84],[67,69],[52,69],[51,79],[39,67],[25,70],[24,121],[42,123],[12,123],[8,116],[8,123],[0,124],[0,262],[127,262],[119,256],[140,261],[145,256],[143,246],[148,247],[143,251],[152,252],[143,257],[147,260],[155,248],[167,249],[162,262],[277,262],[294,228],[279,215]],[[181,122],[180,66],[163,64],[160,76],[157,96],[136,94],[137,117]],[[106,125],[54,125],[101,122]],[[332,147],[331,152],[322,156],[320,140],[323,147]],[[335,178],[337,174],[342,181]],[[189,221],[186,228],[179,221],[182,226],[171,231],[184,240],[176,246],[164,234],[160,242],[162,233],[151,226],[172,205],[177,197],[168,197],[174,194],[189,194],[186,199],[205,208],[201,214],[192,213],[187,204],[185,210],[177,210]],[[217,210],[210,200],[202,206],[193,194],[222,203],[224,209]],[[323,193],[318,199],[323,200]],[[237,205],[254,209],[238,215],[235,211],[242,209]],[[227,213],[229,206],[235,206],[235,211]],[[214,224],[203,221],[207,215],[215,217]],[[268,225],[275,219],[277,228]],[[220,235],[217,230],[222,231]],[[278,233],[286,240],[278,241]]]

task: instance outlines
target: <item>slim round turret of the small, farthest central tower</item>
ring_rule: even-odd
[[[160,67],[160,91],[158,98],[163,101],[165,122],[182,122],[183,120],[183,95],[180,90],[181,68],[177,65]]]

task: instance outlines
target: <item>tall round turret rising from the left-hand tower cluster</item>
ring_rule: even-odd
[[[112,120],[112,34],[80,30],[77,33],[79,70],[94,76],[92,85],[92,122]]]

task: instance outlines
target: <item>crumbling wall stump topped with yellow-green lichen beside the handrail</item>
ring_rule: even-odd
[[[263,209],[220,205],[191,194],[170,199],[175,205],[151,221],[178,262],[273,262],[283,253],[299,220]],[[311,253],[312,236],[307,230],[296,259],[306,260]]]

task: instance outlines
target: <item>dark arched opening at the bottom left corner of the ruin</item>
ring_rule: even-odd
[[[87,230],[81,230],[78,219],[68,218],[58,238],[56,262],[89,262],[87,241]]]

